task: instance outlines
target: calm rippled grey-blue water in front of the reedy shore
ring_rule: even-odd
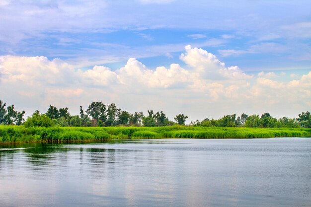
[[[0,148],[0,207],[311,207],[311,138]]]

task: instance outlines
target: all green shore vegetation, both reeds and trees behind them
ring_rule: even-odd
[[[134,138],[274,138],[311,137],[311,114],[298,118],[273,118],[269,113],[225,115],[215,119],[191,121],[184,114],[168,120],[160,111],[133,114],[122,111],[114,103],[92,102],[79,115],[68,108],[50,105],[47,112],[36,111],[25,121],[25,112],[15,111],[0,100],[0,144],[21,142],[90,142]]]

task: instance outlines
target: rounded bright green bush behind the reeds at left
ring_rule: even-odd
[[[46,115],[36,111],[24,122],[25,127],[52,127],[54,122]]]

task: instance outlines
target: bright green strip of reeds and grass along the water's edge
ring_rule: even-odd
[[[311,129],[221,127],[34,127],[0,126],[0,144],[22,142],[90,142],[142,138],[311,137]]]

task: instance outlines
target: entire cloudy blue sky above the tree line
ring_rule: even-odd
[[[0,0],[0,99],[170,120],[311,110],[310,0]]]

